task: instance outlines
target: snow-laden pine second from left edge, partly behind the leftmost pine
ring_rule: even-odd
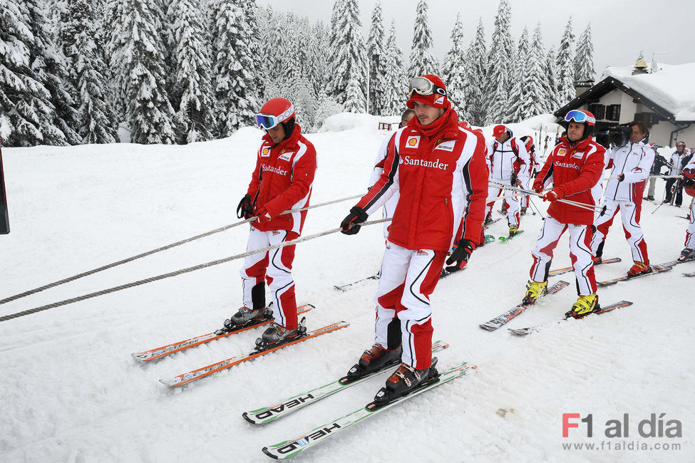
[[[50,93],[51,103],[55,108],[53,125],[64,135],[64,140],[58,137],[51,141],[46,139],[46,133],[44,133],[43,142],[51,145],[62,145],[64,142],[77,145],[81,139],[75,131],[77,113],[73,108],[75,105],[73,95],[76,90],[71,88],[65,57],[58,51],[53,29],[46,16],[46,5],[41,0],[24,0],[21,5],[27,15],[29,31],[34,36],[34,43],[30,47],[30,72]]]

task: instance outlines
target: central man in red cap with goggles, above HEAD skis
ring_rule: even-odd
[[[413,78],[408,96],[416,117],[391,137],[381,178],[341,223],[345,234],[354,234],[369,214],[400,194],[376,293],[375,342],[347,375],[355,380],[402,362],[376,402],[438,376],[429,296],[454,241],[458,247],[447,264],[460,266],[478,244],[488,190],[485,139],[458,125],[441,78]]]

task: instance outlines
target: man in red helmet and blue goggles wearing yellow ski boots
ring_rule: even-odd
[[[589,111],[572,110],[565,116],[565,123],[567,137],[560,138],[533,182],[533,189],[538,193],[547,184],[552,183],[553,187],[543,197],[544,201],[550,201],[548,217],[531,251],[533,264],[522,303],[535,303],[538,296],[547,292],[552,251],[560,236],[569,229],[570,259],[575,269],[579,298],[567,316],[582,318],[599,308],[590,249],[594,212],[558,202],[557,199],[568,198],[592,206],[596,204],[601,196],[600,182],[606,150],[592,138],[596,120]]]

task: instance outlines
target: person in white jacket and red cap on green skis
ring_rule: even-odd
[[[492,144],[488,147],[488,165],[490,167],[490,187],[488,199],[498,197],[504,189],[499,185],[526,187],[531,174],[531,158],[525,143],[517,140],[511,130],[504,125],[493,128]],[[494,202],[489,202],[485,209],[485,222],[488,222]],[[520,199],[514,197],[505,199],[509,235],[514,236],[519,231],[521,222]]]

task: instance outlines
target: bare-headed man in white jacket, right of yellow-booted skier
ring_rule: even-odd
[[[632,134],[625,145],[614,148],[608,156],[607,169],[611,170],[606,191],[603,195],[602,206],[605,213],[596,218],[594,239],[591,249],[594,253],[594,263],[602,259],[603,245],[608,229],[613,223],[613,217],[618,210],[621,212],[622,227],[627,243],[632,249],[634,265],[627,272],[628,276],[648,274],[652,271],[647,255],[647,243],[644,241],[642,227],[639,227],[639,215],[642,212],[642,195],[647,177],[654,163],[654,150],[649,147],[649,129],[642,121],[630,123]]]

